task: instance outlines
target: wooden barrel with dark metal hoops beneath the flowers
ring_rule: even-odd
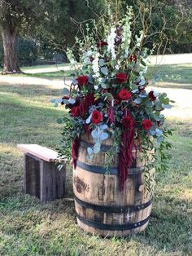
[[[111,144],[111,139],[105,140],[101,152],[88,161],[87,148],[93,145],[93,140],[86,135],[81,137],[76,170],[73,170],[76,217],[78,225],[86,232],[122,237],[142,232],[147,227],[152,201],[150,193],[144,189],[141,153],[137,152],[123,192],[119,186],[118,154],[106,173],[103,166]]]

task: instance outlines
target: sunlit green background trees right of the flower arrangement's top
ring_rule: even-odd
[[[192,42],[192,3],[190,0],[106,0],[118,15],[133,6],[137,17],[133,30],[144,27],[149,35],[146,46],[155,47],[156,54],[190,52]]]

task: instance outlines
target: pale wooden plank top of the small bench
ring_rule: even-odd
[[[17,148],[20,148],[25,153],[30,153],[35,157],[48,162],[54,162],[58,157],[58,152],[50,148],[45,148],[37,144],[18,144]]]

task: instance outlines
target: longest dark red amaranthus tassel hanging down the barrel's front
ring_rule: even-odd
[[[120,143],[119,179],[120,191],[124,190],[124,183],[128,179],[129,168],[133,163],[134,120],[129,114],[122,119],[123,133]]]

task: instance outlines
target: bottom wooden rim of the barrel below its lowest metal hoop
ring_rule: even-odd
[[[130,236],[132,234],[137,234],[140,232],[143,232],[146,227],[148,226],[149,220],[142,225],[142,227],[137,227],[132,230],[124,230],[124,231],[113,231],[113,230],[103,230],[95,227],[91,227],[85,223],[83,223],[78,217],[76,218],[77,224],[81,229],[83,229],[85,232],[91,234],[91,235],[96,235],[96,236],[101,236],[105,238],[112,238],[112,237],[126,237]]]

